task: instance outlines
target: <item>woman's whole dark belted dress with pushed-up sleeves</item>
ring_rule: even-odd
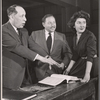
[[[73,37],[73,56],[72,60],[75,61],[74,66],[71,68],[69,75],[83,78],[86,71],[86,63],[90,61],[93,63],[91,69],[91,76],[95,77],[98,74],[98,58],[97,55],[97,40],[95,35],[89,30],[85,30],[76,45],[76,34]],[[87,59],[82,59],[87,57]]]

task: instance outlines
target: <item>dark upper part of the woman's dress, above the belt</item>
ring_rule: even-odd
[[[87,57],[87,61],[93,62],[94,55],[97,55],[97,40],[95,35],[89,30],[85,30],[78,44],[76,45],[76,35],[73,37],[73,56],[76,61],[81,57]]]

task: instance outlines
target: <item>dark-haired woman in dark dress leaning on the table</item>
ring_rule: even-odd
[[[89,21],[90,15],[79,11],[68,22],[76,34],[73,37],[73,56],[64,74],[82,78],[82,82],[90,80],[93,59],[97,57],[96,37],[86,29]]]

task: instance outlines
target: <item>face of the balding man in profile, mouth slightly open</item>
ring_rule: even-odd
[[[22,7],[16,7],[17,14],[13,14],[12,16],[12,24],[16,28],[23,28],[26,22],[26,12]]]

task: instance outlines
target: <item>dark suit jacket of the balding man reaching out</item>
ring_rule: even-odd
[[[3,86],[11,89],[19,88],[22,84],[26,58],[34,60],[37,54],[28,49],[27,30],[23,28],[20,32],[22,33],[22,44],[9,22],[2,26]]]

